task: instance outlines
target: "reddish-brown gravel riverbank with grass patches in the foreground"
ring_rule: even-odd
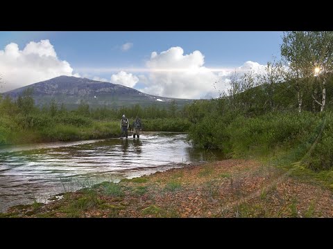
[[[101,183],[2,217],[332,217],[332,190],[256,160],[222,160]]]

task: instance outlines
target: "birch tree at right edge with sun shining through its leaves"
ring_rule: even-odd
[[[298,95],[298,111],[302,109],[302,95],[307,84],[313,84],[314,76],[321,81],[321,100],[312,94],[314,102],[325,109],[326,81],[333,68],[332,31],[292,31],[284,33],[281,55],[287,62]]]

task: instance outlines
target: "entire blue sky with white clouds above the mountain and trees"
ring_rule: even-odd
[[[280,59],[282,35],[277,31],[0,32],[0,92],[69,75],[162,97],[210,98],[228,88],[232,71],[259,70],[272,56]]]

